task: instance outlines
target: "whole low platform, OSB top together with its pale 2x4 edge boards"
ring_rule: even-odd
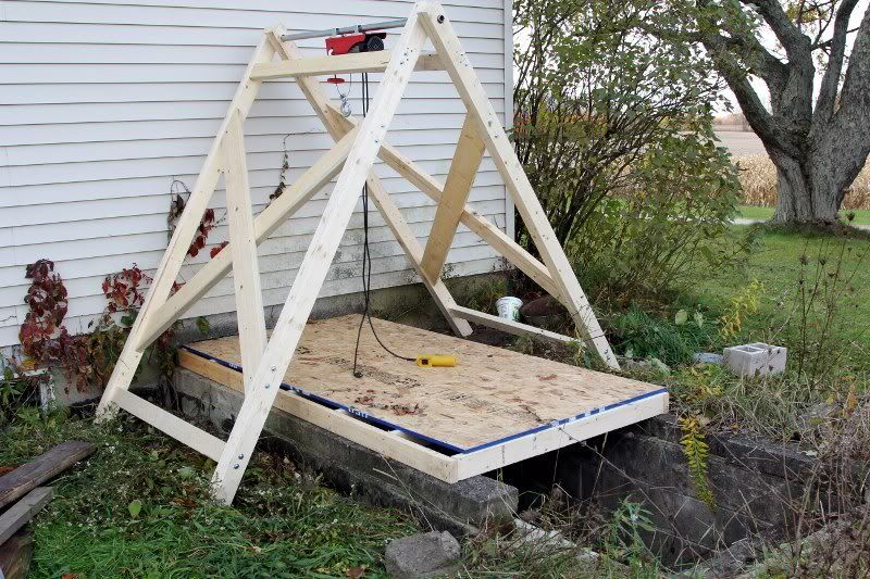
[[[299,407],[319,406],[316,416],[302,417],[327,430],[333,428],[323,417],[331,415],[370,425],[356,442],[406,463],[415,452],[412,466],[448,482],[668,407],[668,393],[659,386],[376,318],[377,336],[401,355],[453,354],[459,364],[421,368],[394,357],[365,324],[359,357],[363,377],[356,378],[351,370],[359,324],[359,315],[310,320],[278,399],[296,401]],[[244,389],[238,336],[188,344],[179,364]],[[290,406],[288,412],[298,411]]]

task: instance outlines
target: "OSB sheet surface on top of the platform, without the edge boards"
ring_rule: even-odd
[[[359,356],[364,376],[355,378],[351,368],[359,322],[359,315],[309,322],[284,382],[457,450],[661,390],[377,318],[377,336],[393,351],[409,357],[452,354],[459,364],[420,368],[396,358],[377,344],[366,324]],[[237,336],[190,348],[241,365]]]

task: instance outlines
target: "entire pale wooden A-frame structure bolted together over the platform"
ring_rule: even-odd
[[[116,407],[123,408],[213,458],[217,463],[213,476],[215,495],[227,503],[232,502],[363,184],[368,184],[372,201],[458,336],[471,333],[468,323],[471,320],[513,333],[532,333],[561,342],[573,341],[566,336],[456,304],[440,279],[440,272],[461,222],[558,299],[570,312],[587,347],[597,352],[608,366],[619,368],[508,136],[438,2],[421,1],[414,4],[391,51],[301,59],[295,43],[283,41],[282,35],[279,27],[266,29],[245,71],[102,395],[98,415],[110,416]],[[422,51],[426,39],[432,41],[435,52]],[[274,60],[275,55],[277,60]],[[390,121],[414,71],[447,71],[468,110],[452,165],[444,184],[421,171],[385,141]],[[358,123],[344,117],[327,100],[316,76],[361,72],[383,72],[384,75],[368,116]],[[254,218],[248,187],[243,123],[260,85],[264,80],[287,77],[295,78],[299,84],[335,140],[335,147]],[[474,175],[485,151],[489,152],[498,167],[543,263],[467,205]],[[372,171],[375,158],[381,158],[437,202],[425,248],[418,242]],[[221,174],[226,189],[229,244],[177,292],[171,294],[187,248]],[[272,336],[268,339],[257,246],[336,176],[335,189]],[[228,440],[224,442],[132,394],[128,389],[145,349],[226,276],[231,268],[245,401]]]

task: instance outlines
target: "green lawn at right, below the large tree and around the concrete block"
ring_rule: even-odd
[[[736,333],[723,336],[722,316],[733,314],[735,297],[755,280],[757,311],[744,310]],[[681,366],[664,380],[672,408],[792,440],[806,428],[808,410],[853,404],[870,391],[868,286],[870,240],[761,230],[743,267],[699,277],[676,306],[701,312],[717,329],[708,351],[755,341],[783,345],[786,372],[747,380],[718,366]]]

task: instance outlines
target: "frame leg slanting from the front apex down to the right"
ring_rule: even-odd
[[[428,33],[428,37],[440,55],[469,113],[474,114],[481,137],[505,179],[505,185],[510,191],[517,210],[535,241],[547,269],[560,290],[563,303],[571,313],[577,329],[583,333],[584,341],[597,352],[608,366],[619,369],[617,357],[598,325],[592,305],[583,293],[571,263],[556,238],[547,215],[540,206],[540,201],[535,196],[532,184],[529,182],[529,177],[517,158],[513,146],[510,143],[483,85],[474,73],[468,55],[462,50],[452,25],[444,14],[444,10],[435,2],[427,4],[421,9],[420,22]]]

